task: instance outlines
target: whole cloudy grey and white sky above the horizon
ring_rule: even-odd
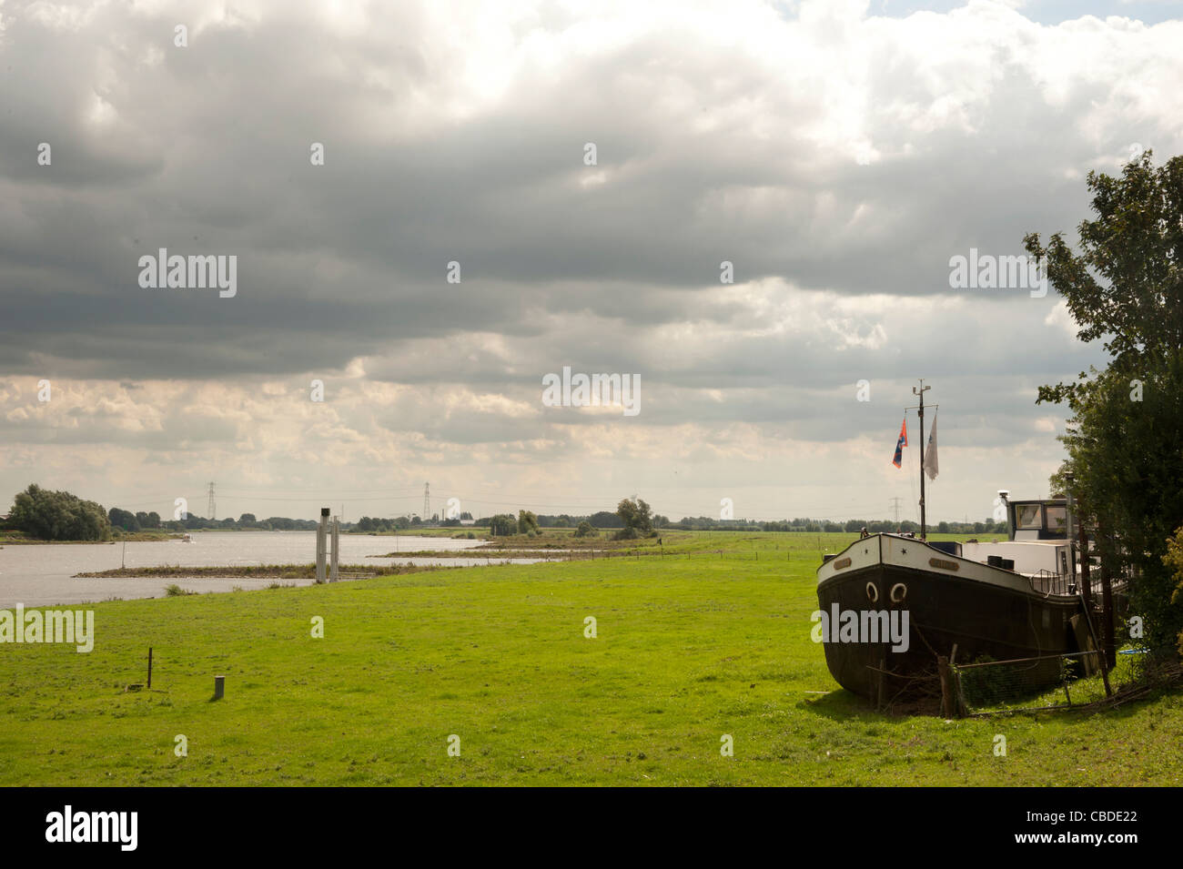
[[[5,0],[0,510],[916,519],[918,378],[930,520],[1046,497],[1036,388],[1104,350],[951,262],[1183,153],[1181,14]],[[144,286],[161,248],[233,294]]]

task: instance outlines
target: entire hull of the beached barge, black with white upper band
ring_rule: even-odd
[[[835,566],[839,565],[839,566]],[[884,702],[906,694],[910,677],[937,672],[938,656],[970,663],[1011,661],[1075,651],[1069,620],[1075,596],[1039,595],[1026,577],[950,556],[922,540],[877,536],[852,544],[819,571],[817,603],[825,614],[854,610],[907,614],[907,642],[823,640],[826,664],[847,690]],[[893,599],[896,598],[896,599]],[[836,610],[835,610],[836,608]],[[1059,682],[1061,662],[1016,664],[1017,687]]]

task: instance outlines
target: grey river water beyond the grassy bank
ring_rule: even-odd
[[[341,564],[442,564],[471,566],[502,564],[505,558],[484,556],[450,558],[369,558],[401,550],[405,552],[455,552],[479,546],[481,540],[455,540],[447,537],[411,537],[400,534],[371,537],[341,536]],[[125,547],[125,549],[124,549]],[[235,566],[248,564],[311,564],[316,560],[315,531],[199,531],[190,543],[181,540],[144,540],[131,543],[62,543],[6,545],[0,549],[0,609],[46,607],[63,603],[91,603],[112,597],[163,597],[164,586],[176,583],[189,591],[230,591],[263,589],[273,582],[311,585],[312,579],[250,579],[246,577],[182,579],[151,578],[75,578],[76,573],[111,570],[121,562],[128,568],[156,566]],[[525,563],[537,559],[515,558]]]

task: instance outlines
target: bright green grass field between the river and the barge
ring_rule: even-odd
[[[809,640],[816,536],[679,545],[92,604],[90,654],[0,646],[0,784],[1183,784],[1183,694],[888,718],[839,689]],[[153,688],[124,690],[149,646]]]

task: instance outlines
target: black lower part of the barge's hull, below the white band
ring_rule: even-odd
[[[868,583],[878,592],[874,601]],[[891,590],[899,583],[906,586],[906,597],[893,603]],[[936,674],[937,656],[951,656],[953,646],[957,663],[987,656],[1010,661],[1077,650],[1069,624],[1080,611],[1074,597],[1024,594],[969,576],[880,563],[826,579],[817,586],[817,602],[827,614],[834,604],[840,611],[907,610],[909,643],[904,651],[893,651],[891,642],[823,642],[826,664],[838,683],[877,702],[906,695],[906,677]],[[881,676],[878,670],[891,675]],[[1023,664],[1011,675],[1023,688],[1054,686],[1061,677],[1061,662]]]

